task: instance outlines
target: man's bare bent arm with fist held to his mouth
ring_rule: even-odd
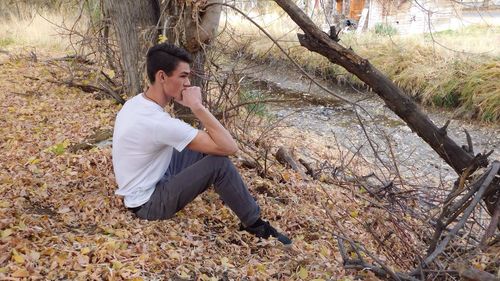
[[[206,129],[198,131],[196,137],[188,144],[188,148],[194,151],[215,154],[232,155],[238,151],[238,145],[231,134],[222,126],[210,111],[201,102],[201,91],[199,87],[188,87],[182,92],[182,100],[178,103],[187,106],[200,120]]]

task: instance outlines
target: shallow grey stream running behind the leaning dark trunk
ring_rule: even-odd
[[[298,71],[285,66],[246,66],[239,70],[245,75],[243,86],[251,91],[260,91],[263,95],[281,96],[308,96],[327,99],[328,105],[315,105],[301,102],[278,103],[266,105],[270,114],[282,118],[286,125],[299,130],[314,133],[318,141],[326,144],[338,143],[341,147],[361,155],[380,165],[373,153],[372,146],[378,151],[380,159],[390,161],[394,155],[398,169],[405,181],[426,182],[428,184],[451,183],[456,180],[456,173],[446,164],[432,148],[425,143],[416,133],[406,126],[396,114],[387,108],[375,93],[354,89],[349,85],[339,86],[328,81],[316,79],[332,92],[350,100],[359,101],[365,112],[358,111],[363,119],[367,134],[372,144],[368,143],[364,130],[358,122],[353,107],[345,102],[340,102],[322,90]],[[459,145],[466,144],[464,129],[471,135],[474,152],[494,150],[489,157],[490,161],[500,159],[498,148],[500,146],[500,124],[484,124],[479,121],[468,121],[453,118],[453,113],[432,108],[421,109],[429,118],[442,127],[447,120],[448,135]],[[390,137],[391,147],[387,145],[387,136]],[[392,150],[392,153],[391,151]],[[307,155],[307,148],[302,154]],[[432,179],[432,180],[430,180]],[[430,181],[429,181],[430,180]],[[431,183],[432,182],[432,183]]]

